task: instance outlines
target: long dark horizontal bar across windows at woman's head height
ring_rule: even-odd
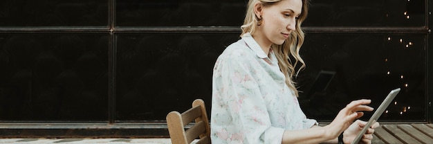
[[[426,27],[304,27],[306,33],[430,33]],[[239,27],[42,27],[0,28],[0,33],[240,33]]]

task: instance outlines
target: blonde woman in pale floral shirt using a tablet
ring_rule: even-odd
[[[351,102],[324,127],[300,109],[292,78],[297,64],[304,67],[299,51],[307,6],[308,0],[248,2],[241,39],[214,66],[212,143],[351,143],[366,124],[356,119],[373,110],[371,100]],[[378,126],[363,143],[371,143]]]

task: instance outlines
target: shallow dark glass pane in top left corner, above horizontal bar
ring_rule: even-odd
[[[0,26],[109,26],[107,0],[3,0]]]

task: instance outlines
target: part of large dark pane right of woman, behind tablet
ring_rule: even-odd
[[[378,107],[400,87],[396,103],[380,120],[425,120],[425,39],[423,34],[308,34],[301,50],[306,69],[297,78],[304,112],[332,120],[351,100],[369,98]],[[320,71],[335,75],[316,79]]]

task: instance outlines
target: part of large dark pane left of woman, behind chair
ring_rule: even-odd
[[[208,104],[212,69],[239,33],[117,35],[117,120],[165,120],[202,98]]]

